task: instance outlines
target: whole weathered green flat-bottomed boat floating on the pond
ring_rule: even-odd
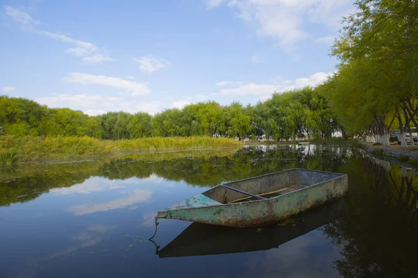
[[[157,218],[254,227],[302,213],[348,192],[346,174],[291,169],[222,183],[157,213]]]

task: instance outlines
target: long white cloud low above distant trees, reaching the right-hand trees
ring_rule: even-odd
[[[295,79],[295,81],[281,80],[277,84],[239,83],[231,88],[222,89],[220,94],[233,96],[256,95],[264,101],[274,92],[285,92],[306,86],[315,87],[323,81],[326,81],[327,77],[332,76],[332,74],[332,72],[317,72],[309,77]]]

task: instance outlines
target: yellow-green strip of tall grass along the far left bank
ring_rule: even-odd
[[[0,163],[18,161],[68,161],[118,156],[144,151],[173,149],[210,149],[240,147],[241,142],[228,138],[173,137],[135,140],[100,140],[84,137],[0,136]],[[10,157],[13,156],[13,160]]]

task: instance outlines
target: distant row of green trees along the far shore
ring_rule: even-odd
[[[107,140],[172,136],[215,136],[327,140],[341,126],[316,88],[303,88],[251,106],[215,101],[189,104],[150,115],[109,112],[88,116],[70,108],[48,108],[29,99],[0,97],[0,134],[91,136]]]

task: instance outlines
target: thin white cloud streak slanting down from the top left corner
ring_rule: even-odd
[[[59,40],[65,42],[66,44],[74,44],[76,47],[69,48],[65,50],[66,54],[70,54],[76,57],[83,57],[93,54],[90,57],[85,57],[83,60],[88,63],[97,63],[103,61],[114,60],[107,55],[104,55],[106,51],[99,50],[95,44],[91,42],[84,42],[82,40],[75,40],[70,38],[68,35],[63,35],[61,33],[52,33],[45,30],[36,29],[35,26],[40,24],[37,20],[34,20],[31,15],[25,13],[24,11],[14,8],[11,6],[5,6],[4,12],[6,15],[11,17],[17,24],[19,24],[24,31],[31,31],[40,35],[45,35],[48,38],[53,40]],[[102,52],[104,54],[102,54]]]

